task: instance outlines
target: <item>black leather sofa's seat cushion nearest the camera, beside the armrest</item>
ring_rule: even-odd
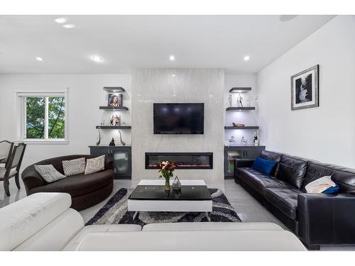
[[[295,188],[271,187],[264,190],[265,199],[292,219],[297,218],[297,198],[300,191]]]

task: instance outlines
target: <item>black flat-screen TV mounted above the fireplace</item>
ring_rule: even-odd
[[[153,104],[154,134],[203,134],[204,104]]]

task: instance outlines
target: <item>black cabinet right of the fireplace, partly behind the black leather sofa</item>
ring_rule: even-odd
[[[265,146],[224,146],[224,178],[233,178],[234,159],[255,159]]]

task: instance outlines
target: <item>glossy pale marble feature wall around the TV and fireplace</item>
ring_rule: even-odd
[[[212,152],[212,170],[175,170],[182,179],[222,180],[224,70],[132,70],[132,179],[156,179],[145,153]],[[153,103],[204,103],[204,135],[154,135]]]

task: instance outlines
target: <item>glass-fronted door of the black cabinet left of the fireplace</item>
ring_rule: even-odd
[[[131,151],[130,150],[111,150],[111,159],[114,160],[114,177],[131,177]]]

